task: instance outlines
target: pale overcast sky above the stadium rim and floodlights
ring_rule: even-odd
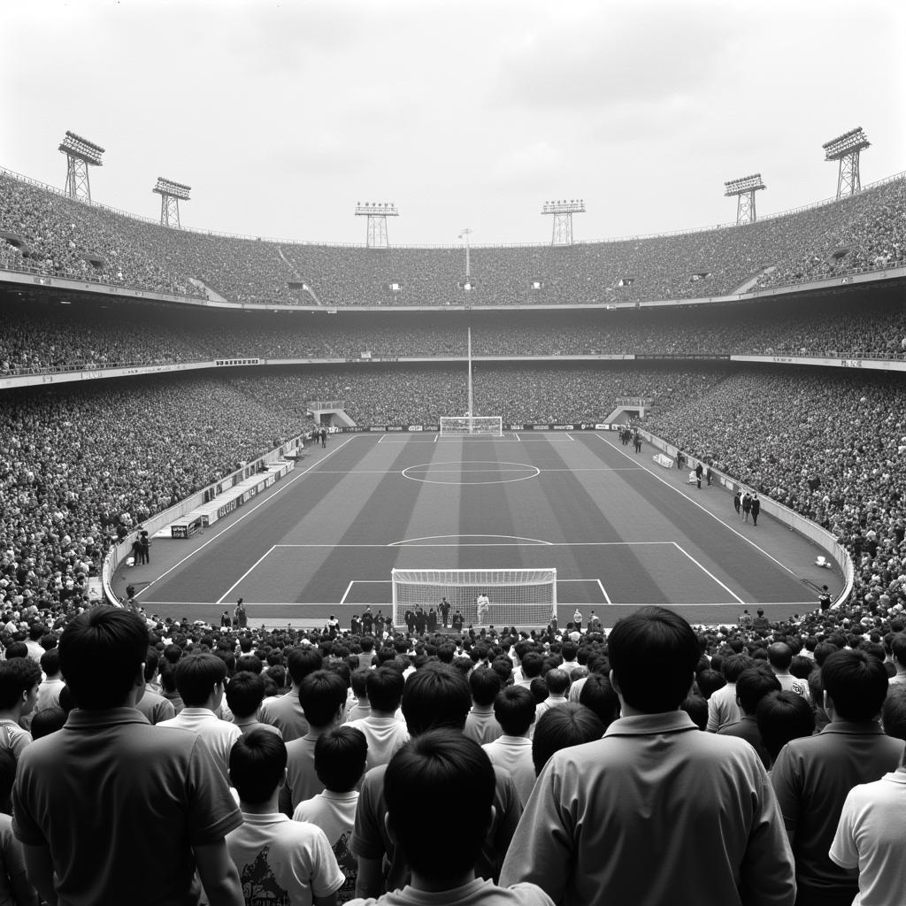
[[[184,226],[361,244],[548,242],[728,223],[834,195],[821,145],[862,126],[863,184],[906,169],[900,0],[31,0],[0,19],[0,165],[61,187],[65,130],[106,149],[92,197]]]

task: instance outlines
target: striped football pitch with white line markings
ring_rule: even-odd
[[[242,597],[253,625],[335,613],[344,627],[366,604],[390,613],[394,567],[553,567],[561,623],[578,607],[605,626],[643,604],[693,623],[759,606],[782,619],[840,587],[804,538],[764,514],[742,523],[726,489],[690,486],[653,452],[607,431],[334,436],[265,499],[203,537],[155,541],[152,565],[117,580],[160,616],[219,622]]]

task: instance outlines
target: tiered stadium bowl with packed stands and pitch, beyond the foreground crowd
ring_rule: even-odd
[[[5,493],[27,501],[6,525],[7,600],[55,603],[90,584],[122,602],[130,586],[160,617],[217,622],[241,596],[253,622],[318,627],[333,612],[347,624],[369,604],[390,613],[398,566],[559,564],[549,600],[531,613],[509,611],[501,590],[497,625],[544,626],[554,601],[597,607],[607,625],[633,603],[681,603],[699,624],[761,605],[788,619],[814,609],[825,583],[836,602],[901,602],[902,175],[737,226],[472,246],[467,257],[459,247],[218,236],[8,171],[0,188],[2,381],[7,423],[20,426]],[[383,215],[370,215],[370,229],[373,217]],[[442,429],[464,413],[486,427]],[[610,500],[595,500],[587,481],[622,476],[615,440],[627,426],[645,439],[627,465],[646,487],[662,484],[660,471],[675,493],[686,473],[671,469],[708,466],[721,488],[703,516],[711,525],[690,538],[672,504],[646,515],[622,480]],[[311,443],[321,427],[331,431],[326,452]],[[50,457],[41,469],[17,462],[17,450],[41,449]],[[657,455],[667,470],[651,466]],[[294,515],[276,513],[275,528],[259,498],[260,513],[239,525],[255,473],[277,460],[282,474],[257,490],[292,467],[290,500],[274,508]],[[352,487],[357,470],[376,476],[367,495]],[[763,497],[763,527],[776,528],[758,549],[744,551],[751,543],[740,538],[740,549],[725,549],[724,536],[738,535],[725,520],[737,487]],[[402,504],[418,507],[429,491],[422,506],[447,516]],[[308,514],[309,493],[342,506]],[[564,495],[579,507],[578,534],[564,531]],[[620,529],[608,519],[614,507]],[[391,522],[399,534],[387,538]],[[154,538],[162,576],[135,564],[140,530]],[[212,534],[225,537],[212,546]],[[788,545],[794,536],[814,550]],[[639,554],[643,544],[658,546]],[[189,557],[194,547],[203,549]],[[776,570],[770,582],[745,578],[760,572],[758,557]],[[19,582],[23,563],[31,568]],[[480,589],[469,587],[460,600],[472,624]]]

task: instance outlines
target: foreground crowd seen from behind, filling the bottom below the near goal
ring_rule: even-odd
[[[899,901],[901,607],[698,634],[653,607],[608,633],[581,611],[530,632],[372,635],[370,617],[268,631],[240,600],[219,626],[132,601],[11,618],[0,890],[29,906],[125,890],[211,906]],[[425,821],[451,790],[468,807]]]

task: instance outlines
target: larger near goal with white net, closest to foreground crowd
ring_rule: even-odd
[[[407,611],[427,612],[447,598],[450,616],[462,613],[463,625],[546,626],[557,612],[555,569],[394,569],[393,625],[405,625]],[[478,613],[479,595],[487,607]]]

